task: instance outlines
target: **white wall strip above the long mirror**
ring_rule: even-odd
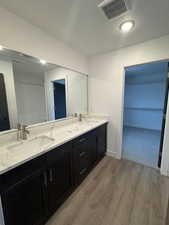
[[[88,74],[87,58],[0,7],[0,45]]]

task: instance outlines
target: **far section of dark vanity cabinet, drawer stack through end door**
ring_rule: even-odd
[[[90,170],[105,155],[107,149],[107,124],[102,125],[73,141],[75,184],[80,184]]]

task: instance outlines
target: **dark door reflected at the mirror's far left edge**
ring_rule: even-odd
[[[9,124],[5,81],[3,74],[0,74],[0,131],[9,129],[10,124]]]

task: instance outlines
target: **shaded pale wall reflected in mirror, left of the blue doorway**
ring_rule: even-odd
[[[14,71],[18,122],[35,124],[47,121],[43,74]]]

